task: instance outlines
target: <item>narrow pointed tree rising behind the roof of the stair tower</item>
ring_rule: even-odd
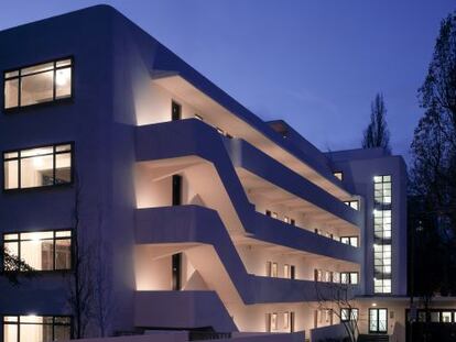
[[[388,130],[386,115],[387,108],[383,95],[377,93],[370,106],[370,123],[363,134],[362,148],[383,147],[389,152],[391,151],[390,131]]]

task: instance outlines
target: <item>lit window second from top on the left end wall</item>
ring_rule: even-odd
[[[3,189],[70,184],[73,146],[58,144],[3,153]]]

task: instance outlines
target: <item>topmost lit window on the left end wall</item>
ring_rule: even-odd
[[[4,109],[72,98],[73,60],[43,63],[4,73]]]

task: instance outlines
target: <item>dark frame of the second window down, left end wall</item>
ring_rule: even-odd
[[[69,170],[69,181],[68,183],[55,183],[55,173],[56,173],[56,155],[57,154],[66,154],[68,153],[68,151],[63,151],[63,152],[57,152],[56,147],[57,146],[63,146],[63,145],[70,145],[70,170]],[[43,185],[43,186],[37,186],[37,187],[29,187],[29,188],[21,188],[21,152],[22,151],[28,151],[28,150],[33,150],[33,148],[42,148],[42,147],[53,147],[53,185]],[[6,158],[6,155],[9,153],[18,153],[17,157],[10,157],[10,158]],[[33,157],[33,156],[31,156]],[[31,157],[23,157],[23,158],[31,158]],[[75,181],[75,142],[62,142],[62,143],[54,143],[54,144],[42,144],[42,145],[34,145],[34,146],[28,146],[28,147],[21,147],[21,148],[14,148],[14,150],[6,150],[2,152],[2,159],[3,159],[3,167],[2,167],[2,189],[3,192],[22,192],[22,191],[33,191],[33,190],[37,190],[37,189],[51,189],[51,188],[58,188],[58,187],[68,187],[68,186],[73,186],[74,181]],[[6,162],[9,161],[18,161],[18,187],[17,188],[11,188],[11,189],[7,189],[7,184],[6,184],[6,177],[4,177],[4,165]]]

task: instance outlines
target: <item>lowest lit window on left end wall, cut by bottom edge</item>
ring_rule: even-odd
[[[4,316],[3,342],[51,342],[70,338],[70,318],[63,316]]]

